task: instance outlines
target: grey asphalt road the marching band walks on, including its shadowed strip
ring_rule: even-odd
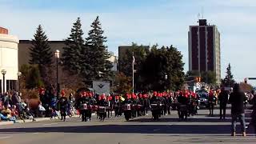
[[[250,112],[250,110],[246,110]],[[151,116],[134,118],[125,122],[124,118],[110,118],[99,122],[95,117],[91,122],[81,122],[80,118],[69,118],[45,122],[20,123],[0,127],[0,144],[165,144],[165,143],[255,143],[256,137],[249,128],[243,138],[230,136],[230,110],[228,118],[218,120],[218,110],[214,117],[208,117],[208,110],[199,110],[198,115],[187,122],[178,122],[177,111],[153,121]],[[248,116],[248,114],[247,114]],[[249,119],[246,120],[249,122]],[[238,126],[239,132],[239,126]]]

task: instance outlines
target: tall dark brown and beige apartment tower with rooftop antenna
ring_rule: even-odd
[[[217,83],[221,82],[220,33],[217,26],[199,19],[199,26],[190,26],[189,70],[214,71]]]

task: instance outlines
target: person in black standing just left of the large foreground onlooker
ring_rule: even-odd
[[[226,118],[226,103],[229,99],[229,94],[227,91],[222,87],[221,93],[218,95],[219,100],[219,119],[225,119]],[[223,112],[223,114],[222,114]]]

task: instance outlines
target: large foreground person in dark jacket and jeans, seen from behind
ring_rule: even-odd
[[[236,133],[236,122],[239,118],[242,126],[242,135],[246,136],[245,107],[246,95],[240,90],[238,83],[234,84],[234,92],[230,94],[229,102],[231,103],[232,116],[232,136]]]

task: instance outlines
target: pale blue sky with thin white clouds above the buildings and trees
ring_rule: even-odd
[[[20,39],[31,39],[42,24],[50,40],[62,40],[78,17],[86,37],[98,15],[110,51],[118,54],[118,46],[131,42],[174,45],[182,51],[188,70],[187,31],[197,25],[198,13],[203,11],[221,33],[222,77],[230,62],[241,82],[256,77],[255,8],[254,0],[0,0],[0,26]]]

